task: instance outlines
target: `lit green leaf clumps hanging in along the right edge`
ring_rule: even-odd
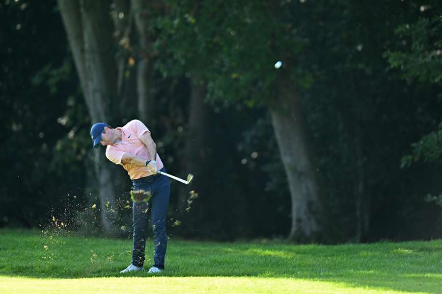
[[[416,11],[416,6],[411,5]],[[390,67],[398,69],[403,79],[409,83],[418,81],[427,87],[442,85],[442,25],[441,3],[430,1],[419,7],[420,16],[410,23],[397,27],[395,34],[400,44],[394,49],[387,50]],[[436,87],[438,100],[442,98],[440,88]],[[410,166],[414,162],[441,162],[441,128],[442,124],[433,127],[433,131],[424,135],[419,141],[412,144],[411,154],[402,157],[402,167]],[[436,202],[442,207],[442,195],[427,196],[427,201]]]

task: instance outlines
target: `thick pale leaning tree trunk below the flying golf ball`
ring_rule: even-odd
[[[270,108],[276,141],[292,200],[289,239],[312,239],[320,229],[319,187],[304,133],[299,97],[293,83],[279,86],[278,105]]]

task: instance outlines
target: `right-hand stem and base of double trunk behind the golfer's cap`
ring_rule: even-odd
[[[86,61],[86,74],[89,84],[87,96],[91,98],[99,120],[111,122],[111,115],[118,115],[116,109],[112,109],[112,103],[116,101],[116,67],[114,60],[112,26],[109,17],[109,7],[106,1],[83,0],[82,21],[84,33],[84,55]],[[95,114],[95,116],[97,116]],[[113,177],[107,167],[108,162],[103,150],[95,150],[95,171],[99,179],[99,199],[101,203],[101,222],[104,232],[114,234],[114,226],[111,223],[113,213],[106,209],[115,205]]]

